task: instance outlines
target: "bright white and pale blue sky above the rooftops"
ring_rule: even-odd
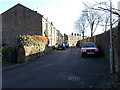
[[[92,1],[93,3],[98,0],[83,1],[90,3]],[[117,1],[119,0],[114,0],[113,4],[117,4]],[[44,15],[45,18],[48,17],[48,21],[53,22],[54,26],[62,34],[71,34],[75,31],[73,24],[83,9],[82,0],[0,0],[0,13],[3,13],[18,3],[37,11]],[[87,31],[87,36],[90,36],[89,31]]]

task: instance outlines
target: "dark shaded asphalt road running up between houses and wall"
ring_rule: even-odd
[[[110,81],[109,61],[82,58],[78,48],[53,51],[2,75],[3,88],[104,88]]]

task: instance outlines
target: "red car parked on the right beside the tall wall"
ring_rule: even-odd
[[[99,55],[99,50],[94,42],[85,42],[81,46],[82,57],[86,55]]]

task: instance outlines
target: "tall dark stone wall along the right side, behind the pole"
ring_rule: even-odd
[[[80,41],[80,45],[83,42],[89,42],[92,38],[86,38]],[[113,39],[113,64],[115,72],[120,72],[120,23],[118,27],[112,29]],[[109,48],[110,48],[110,31],[93,37],[94,42],[98,45],[101,54],[109,60]]]

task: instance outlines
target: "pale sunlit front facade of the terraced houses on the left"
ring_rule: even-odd
[[[62,43],[63,36],[56,29],[56,27],[53,25],[53,23],[48,21],[48,18],[45,19],[42,18],[42,35],[45,36],[44,32],[45,30],[48,30],[48,38],[49,38],[49,46],[54,46],[56,43]]]

